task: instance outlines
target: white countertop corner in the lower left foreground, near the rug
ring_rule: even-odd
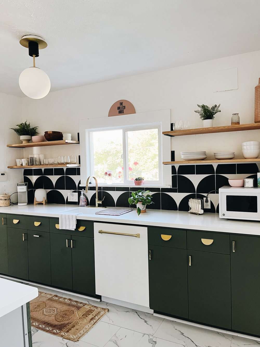
[[[0,317],[38,296],[38,289],[0,278]]]

